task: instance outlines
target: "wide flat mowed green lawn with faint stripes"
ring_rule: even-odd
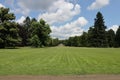
[[[120,48],[0,49],[0,75],[120,74]]]

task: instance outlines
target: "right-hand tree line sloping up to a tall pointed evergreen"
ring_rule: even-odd
[[[120,47],[120,26],[117,32],[106,29],[103,15],[98,12],[94,26],[90,27],[88,32],[83,32],[81,36],[69,37],[64,44],[76,47]]]

